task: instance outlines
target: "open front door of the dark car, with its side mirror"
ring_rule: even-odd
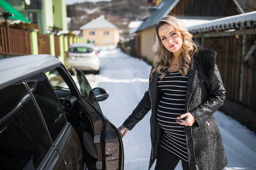
[[[108,97],[101,88],[90,87],[85,75],[75,69],[79,82],[80,108],[79,136],[88,170],[123,170],[124,148],[117,128],[103,116],[98,101]]]

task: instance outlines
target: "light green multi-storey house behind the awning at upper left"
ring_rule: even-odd
[[[7,0],[7,2],[31,23],[37,24],[42,34],[67,31],[65,0]]]

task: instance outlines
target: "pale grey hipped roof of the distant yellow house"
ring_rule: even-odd
[[[104,15],[88,22],[87,24],[81,26],[80,30],[83,29],[118,29],[117,26],[105,19]]]

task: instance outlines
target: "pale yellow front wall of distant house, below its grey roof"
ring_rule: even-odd
[[[90,35],[90,31],[94,31],[94,35]],[[104,31],[108,31],[108,35],[104,35]],[[118,29],[84,29],[82,31],[83,37],[88,38],[91,42],[94,42],[95,46],[102,45],[115,45],[119,42]]]

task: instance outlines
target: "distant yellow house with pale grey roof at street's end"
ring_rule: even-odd
[[[119,29],[105,19],[104,15],[80,27],[82,36],[88,38],[95,46],[115,45],[119,42]]]

